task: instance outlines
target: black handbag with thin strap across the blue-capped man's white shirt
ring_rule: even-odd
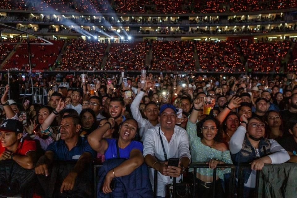
[[[159,127],[160,141],[161,141],[161,144],[162,144],[162,149],[163,149],[163,152],[164,152],[165,160],[168,161],[167,153],[165,151],[164,143],[163,143],[163,140],[162,140],[162,137],[161,137],[160,128],[161,127]],[[165,189],[166,189],[165,198],[188,198],[188,197],[191,197],[192,193],[191,193],[191,184],[190,183],[186,183],[186,182],[176,183],[175,188],[176,188],[176,196],[174,196],[174,194],[173,194],[173,183],[172,184],[167,184],[165,186]]]

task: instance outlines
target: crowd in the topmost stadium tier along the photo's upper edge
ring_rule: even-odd
[[[66,1],[66,0],[46,0],[46,1],[30,1],[24,0],[3,0],[0,2],[0,8],[18,9],[18,10],[37,10],[47,11],[62,8],[62,12],[110,12],[118,13],[222,13],[222,12],[248,12],[262,10],[279,10],[297,7],[295,0],[283,1],[166,1],[166,0],[91,0],[85,1]]]

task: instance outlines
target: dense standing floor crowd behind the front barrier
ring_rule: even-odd
[[[62,82],[61,76],[32,79],[48,87],[44,105],[19,98],[17,87],[30,84],[21,76],[12,75],[10,87],[11,79],[2,78],[1,196],[124,197],[137,192],[136,197],[151,198],[157,170],[157,197],[165,197],[172,178],[192,178],[188,166],[200,162],[209,167],[197,169],[196,195],[201,197],[212,195],[213,183],[215,197],[231,193],[226,187],[231,170],[220,164],[234,164],[238,178],[239,166],[249,163],[242,178],[246,198],[253,197],[256,171],[265,164],[292,162],[282,166],[289,171],[297,162],[295,74],[143,71],[71,77],[62,76]],[[95,184],[92,161],[102,163]]]

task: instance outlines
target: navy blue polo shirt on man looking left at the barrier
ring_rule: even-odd
[[[58,161],[77,161],[85,152],[91,153],[93,158],[97,156],[97,152],[91,148],[88,140],[83,137],[79,137],[77,144],[70,151],[64,140],[49,144],[46,150],[53,151],[55,153],[54,159]]]

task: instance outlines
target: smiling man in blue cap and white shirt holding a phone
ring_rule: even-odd
[[[189,136],[187,131],[176,126],[176,110],[171,104],[160,108],[159,121],[161,127],[153,127],[144,134],[143,155],[145,163],[152,167],[149,171],[150,181],[154,184],[154,169],[157,175],[157,197],[165,197],[165,185],[172,183],[172,177],[181,174],[190,163]],[[163,150],[163,146],[164,150]],[[168,159],[179,158],[179,165],[168,166]]]

